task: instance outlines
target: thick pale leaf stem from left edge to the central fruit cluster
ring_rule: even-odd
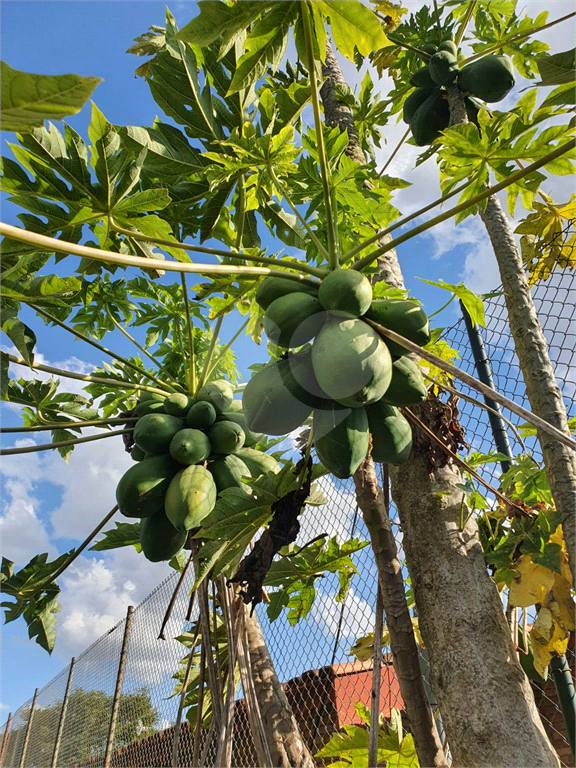
[[[33,245],[37,248],[43,248],[57,253],[66,253],[80,258],[93,259],[94,261],[103,261],[109,264],[120,264],[125,267],[140,267],[141,269],[150,269],[150,259],[142,256],[130,256],[127,254],[105,251],[101,248],[92,248],[87,245],[78,245],[69,243],[66,240],[57,240],[54,237],[47,237],[37,232],[28,232],[21,227],[13,227],[11,224],[0,222],[0,235],[8,237],[10,240],[16,240],[20,243]],[[174,243],[171,243],[173,246]],[[178,247],[182,247],[178,244]],[[227,253],[227,256],[244,258],[242,255]],[[246,257],[247,261],[262,261],[259,257]],[[288,269],[298,269],[302,274],[294,275],[291,272],[284,272],[280,269],[269,269],[267,267],[245,267],[240,264],[189,264],[179,261],[163,261],[162,269],[166,272],[192,272],[198,275],[273,275],[275,277],[284,277],[287,280],[307,283],[308,285],[318,286],[316,280],[303,276],[306,274],[318,274],[323,276],[322,270],[317,270],[307,264],[301,264],[297,261],[281,261],[275,259],[266,259],[266,262],[272,262],[275,265],[285,266]],[[158,263],[158,262],[156,262]]]

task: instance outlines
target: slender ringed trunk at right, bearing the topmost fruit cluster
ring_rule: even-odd
[[[464,97],[457,86],[451,86],[448,104],[454,123],[468,122]],[[537,416],[569,435],[566,406],[554,376],[548,345],[538,321],[522,257],[510,220],[496,195],[488,198],[480,216],[498,262],[510,333],[530,407]],[[572,583],[576,584],[576,454],[541,430],[538,430],[537,436],[556,509],[564,516],[562,528]]]

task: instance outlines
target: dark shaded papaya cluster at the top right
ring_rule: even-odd
[[[450,125],[450,110],[443,90],[446,86],[457,83],[467,94],[468,120],[476,124],[482,107],[476,98],[486,102],[502,101],[514,87],[514,68],[505,56],[484,56],[460,69],[458,48],[452,39],[444,40],[438,47],[423,45],[422,51],[430,58],[426,66],[410,78],[410,85],[416,86],[416,90],[408,96],[403,108],[404,122],[410,126],[419,147],[432,144]]]

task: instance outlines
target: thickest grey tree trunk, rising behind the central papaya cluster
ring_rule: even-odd
[[[395,254],[386,256],[380,265],[386,282],[403,287]],[[430,401],[417,411],[436,434],[444,434],[443,403]],[[558,766],[488,576],[476,522],[470,518],[463,531],[459,528],[461,475],[447,457],[433,466],[433,454],[428,440],[415,433],[410,459],[391,468],[392,496],[430,658],[430,682],[454,761]]]

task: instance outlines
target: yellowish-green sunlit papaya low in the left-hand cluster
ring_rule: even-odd
[[[211,473],[192,464],[175,475],[164,499],[166,515],[178,531],[197,528],[216,503],[216,485]]]

